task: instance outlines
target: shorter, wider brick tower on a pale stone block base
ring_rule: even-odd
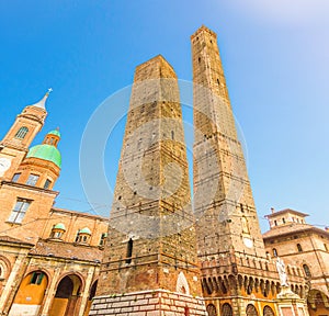
[[[205,315],[177,76],[138,66],[90,315]]]

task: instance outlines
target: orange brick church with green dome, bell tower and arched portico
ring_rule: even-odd
[[[0,143],[0,315],[88,315],[107,221],[54,207],[59,131],[30,147],[48,93],[23,109]]]

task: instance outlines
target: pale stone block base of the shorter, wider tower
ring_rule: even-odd
[[[97,296],[89,315],[185,316],[206,315],[204,300],[164,290]]]

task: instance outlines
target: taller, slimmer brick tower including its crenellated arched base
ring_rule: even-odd
[[[274,309],[279,278],[265,255],[216,34],[202,26],[191,40],[194,212],[207,311],[257,315],[264,304]]]

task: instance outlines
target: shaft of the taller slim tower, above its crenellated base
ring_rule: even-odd
[[[241,144],[237,136],[216,34],[192,35],[194,211],[200,258],[236,251],[265,258]]]

